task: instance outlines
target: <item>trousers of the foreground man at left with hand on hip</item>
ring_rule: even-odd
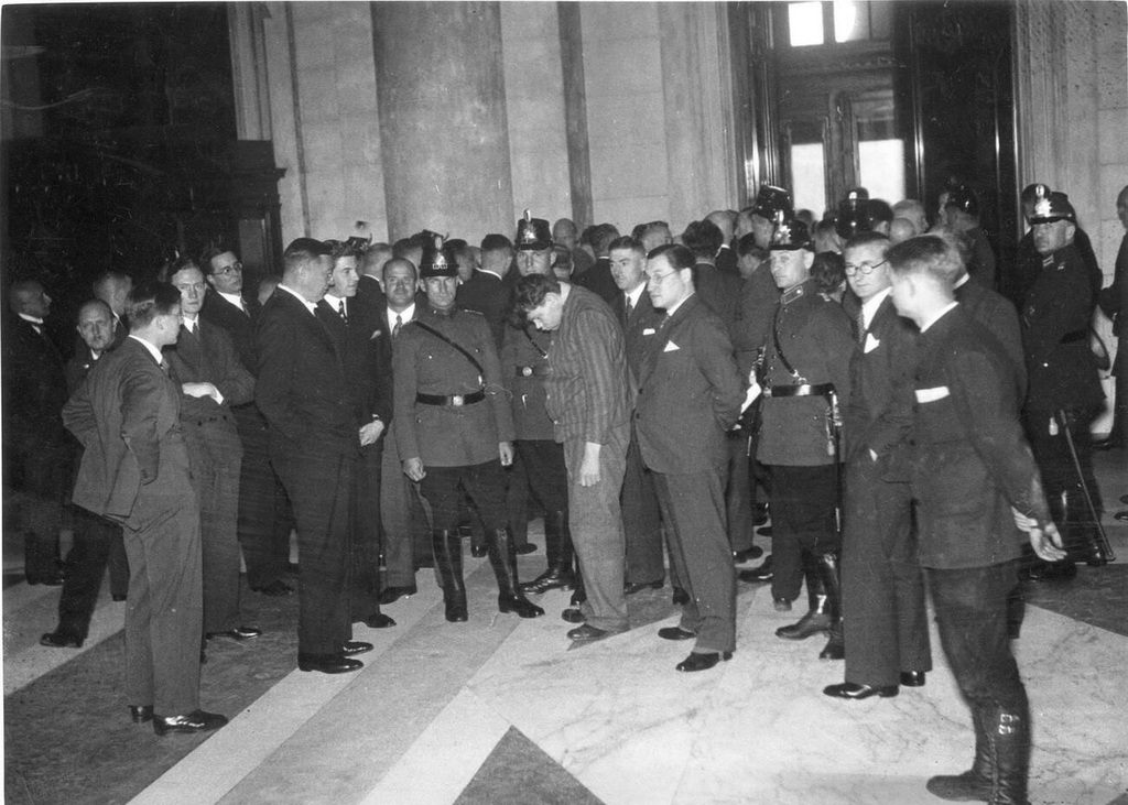
[[[161,479],[150,485],[160,488],[142,486],[123,529],[130,563],[125,695],[130,705],[152,705],[160,716],[200,709],[200,508],[183,480],[183,488]]]

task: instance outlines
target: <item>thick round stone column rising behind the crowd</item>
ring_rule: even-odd
[[[496,2],[373,2],[388,236],[513,229]]]

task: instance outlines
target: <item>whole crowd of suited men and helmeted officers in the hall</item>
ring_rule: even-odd
[[[1128,188],[1117,201],[1128,229]],[[17,282],[6,459],[34,504],[27,581],[63,584],[42,643],[82,645],[108,566],[131,717],[213,729],[208,640],[262,634],[243,622],[240,563],[252,591],[298,592],[298,666],[344,673],[372,648],[353,625],[395,626],[381,605],[417,592],[421,568],[448,621],[470,617],[469,536],[501,612],[536,618],[530,595],[572,591],[574,642],[628,629],[629,596],[669,576],[681,618],[658,637],[693,642],[684,672],[731,658],[738,582],[770,583],[777,611],[805,587],[776,634],[826,635],[820,658],[845,670],[823,692],[858,700],[925,683],[927,581],[977,744],[970,771],[929,789],[1026,802],[1017,582],[1111,558],[1090,324],[1100,301],[1122,333],[1128,246],[1102,291],[1068,197],[1031,185],[1023,203],[1019,309],[994,290],[964,185],[932,228],[913,200],[857,188],[816,221],[765,185],[677,238],[528,212],[479,247],[298,238],[254,295],[218,248],[135,285],[99,277],[68,361],[43,286]],[[1123,360],[1099,446],[1123,448]],[[772,554],[740,569],[765,510]],[[535,516],[546,565],[522,583]]]

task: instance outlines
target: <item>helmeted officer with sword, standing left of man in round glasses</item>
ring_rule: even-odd
[[[790,611],[805,575],[810,602],[799,622],[776,635],[797,640],[829,632],[820,657],[841,660],[838,407],[849,401],[856,342],[841,307],[811,280],[807,225],[777,213],[770,250],[783,293],[767,336],[757,458],[772,475],[772,596],[778,611]]]

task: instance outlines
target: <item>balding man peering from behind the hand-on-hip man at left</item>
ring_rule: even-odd
[[[78,310],[78,333],[82,351],[67,362],[67,390],[78,391],[86,375],[109,348],[114,337],[114,318],[109,306],[100,299],[86,302]],[[77,450],[76,469],[82,449]],[[74,483],[71,479],[71,490]],[[98,603],[98,592],[106,566],[109,566],[109,592],[114,601],[124,601],[129,592],[130,568],[125,560],[122,529],[116,523],[73,506],[74,543],[67,554],[65,581],[59,596],[59,626],[39,638],[50,648],[81,648],[90,630],[90,617]]]

